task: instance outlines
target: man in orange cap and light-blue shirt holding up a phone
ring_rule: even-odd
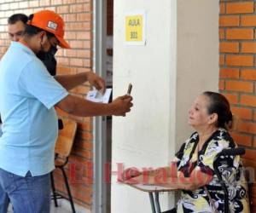
[[[103,79],[93,72],[55,78],[49,75],[36,54],[57,45],[69,48],[63,37],[61,16],[39,11],[29,17],[19,43],[11,43],[1,60],[0,185],[15,212],[49,212],[49,172],[54,169],[58,133],[54,107],[76,116],[125,116],[132,107],[130,95],[103,104],[68,94],[85,81],[104,90]]]

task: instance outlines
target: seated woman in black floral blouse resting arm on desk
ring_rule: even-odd
[[[131,168],[125,170],[122,181],[148,180],[149,184],[181,189],[177,208],[166,212],[224,212],[224,192],[219,190],[213,162],[223,149],[236,147],[227,131],[231,122],[230,104],[224,95],[204,92],[189,109],[189,125],[195,133],[183,143],[172,166],[146,172]],[[228,187],[230,212],[235,213],[249,212],[247,183],[241,167],[240,156],[218,164]]]

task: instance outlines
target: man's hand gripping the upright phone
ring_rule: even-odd
[[[113,115],[115,116],[125,116],[126,112],[131,111],[132,104],[132,97],[131,95],[123,95],[119,96],[113,102],[110,103],[113,109]]]

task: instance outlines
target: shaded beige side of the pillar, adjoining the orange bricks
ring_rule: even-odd
[[[177,0],[177,147],[192,130],[188,109],[205,90],[218,91],[218,1]]]

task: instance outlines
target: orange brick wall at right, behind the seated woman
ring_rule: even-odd
[[[256,159],[256,3],[221,0],[219,89],[241,120],[233,136]]]

